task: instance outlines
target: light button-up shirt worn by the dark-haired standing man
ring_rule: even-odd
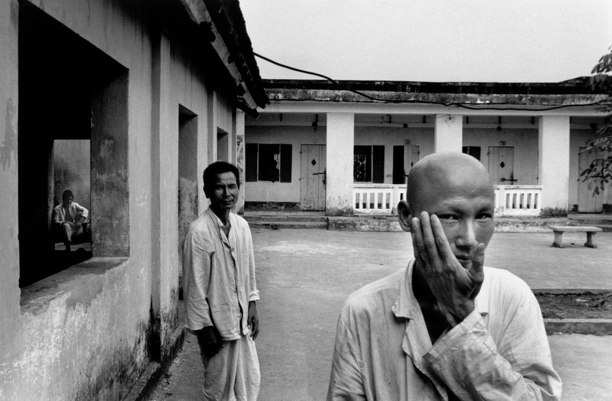
[[[187,229],[183,245],[185,326],[215,326],[223,340],[249,333],[248,303],[259,300],[248,223],[230,213],[230,235],[209,208]]]

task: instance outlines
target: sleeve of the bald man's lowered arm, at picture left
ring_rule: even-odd
[[[327,401],[365,400],[364,381],[361,375],[359,349],[348,321],[349,308],[345,306],[336,329],[332,373],[327,389]]]

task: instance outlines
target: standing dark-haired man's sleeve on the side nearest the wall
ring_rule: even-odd
[[[185,327],[191,331],[213,326],[206,300],[210,279],[211,255],[206,251],[206,243],[189,232],[183,245],[183,298]]]

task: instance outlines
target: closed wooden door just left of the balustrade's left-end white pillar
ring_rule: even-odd
[[[300,148],[300,208],[325,210],[325,145]]]

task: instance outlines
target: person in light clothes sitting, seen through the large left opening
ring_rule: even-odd
[[[83,234],[83,223],[87,221],[89,211],[83,206],[73,202],[74,195],[70,189],[62,194],[62,203],[53,208],[51,224],[53,230],[59,233],[61,240],[70,251],[70,244],[74,235]]]

